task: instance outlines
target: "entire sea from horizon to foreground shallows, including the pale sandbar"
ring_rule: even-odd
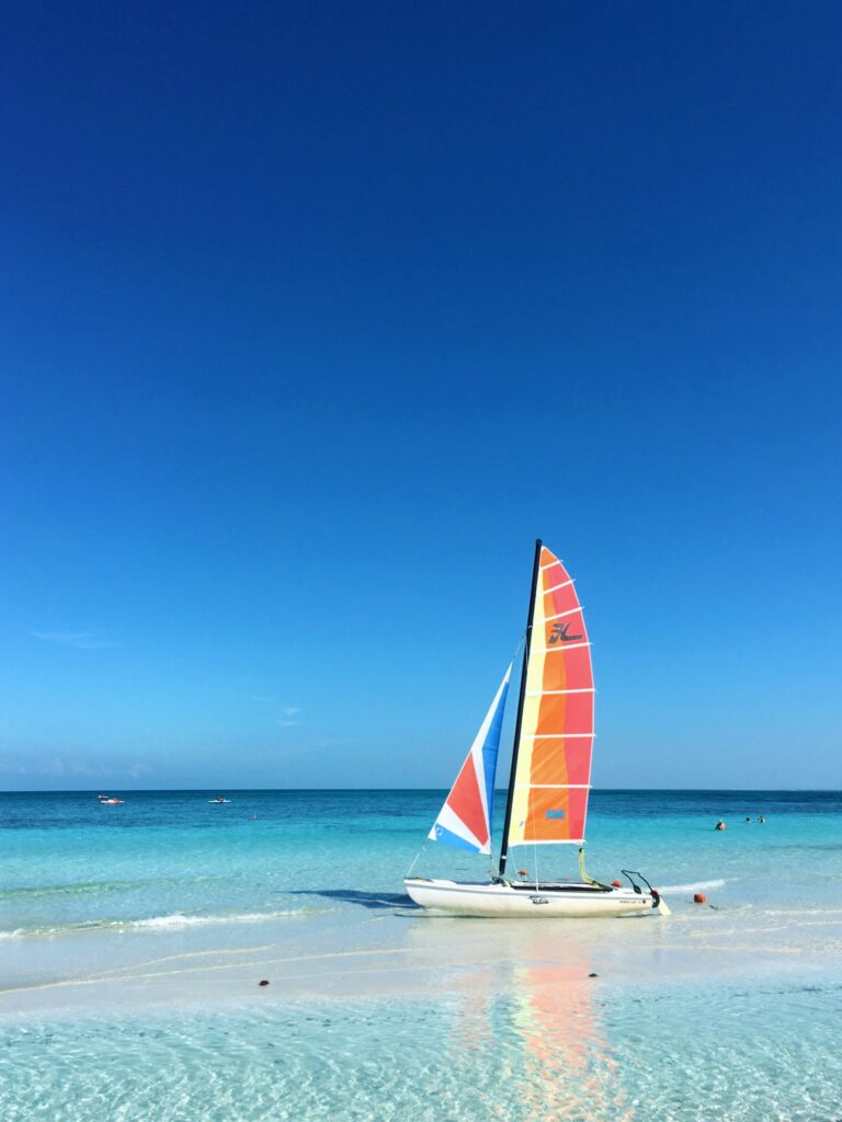
[[[414,909],[443,791],[98,793],[0,794],[4,1122],[842,1118],[842,793],[593,792],[596,921]]]

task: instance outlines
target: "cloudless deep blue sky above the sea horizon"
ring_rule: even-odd
[[[842,787],[842,10],[6,21],[0,787],[445,785],[578,580],[601,787]]]

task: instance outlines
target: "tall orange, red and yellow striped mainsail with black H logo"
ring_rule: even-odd
[[[576,587],[541,546],[515,743],[509,845],[582,845],[594,743],[594,679]]]

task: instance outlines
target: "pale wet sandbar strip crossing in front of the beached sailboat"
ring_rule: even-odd
[[[655,984],[745,969],[826,969],[841,948],[842,910],[776,921],[751,909],[683,901],[663,919],[470,920],[360,908],[249,925],[173,921],[7,940],[0,1015],[434,994],[475,984],[505,990],[516,971],[541,966],[562,967],[570,980],[593,972],[604,981]],[[262,978],[269,985],[259,987]]]

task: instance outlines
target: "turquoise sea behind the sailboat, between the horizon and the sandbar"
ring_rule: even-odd
[[[443,792],[131,792],[0,794],[0,938],[80,926],[354,910],[346,890],[402,892]],[[745,825],[759,815],[765,825]],[[714,834],[717,818],[729,833]],[[502,818],[497,816],[498,820]],[[839,898],[842,795],[594,792],[591,871],[639,868],[659,888],[713,882],[720,902],[794,907]],[[539,850],[539,874],[576,874],[575,854]],[[483,875],[482,858],[425,847],[415,872]],[[533,872],[530,850],[510,868]]]

